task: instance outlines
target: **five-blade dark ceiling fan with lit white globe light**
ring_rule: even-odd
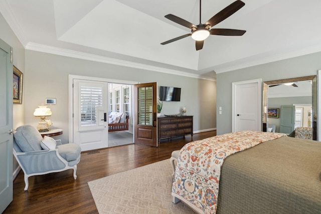
[[[192,33],[191,34],[186,34],[174,39],[171,39],[169,41],[166,41],[164,43],[161,43],[161,45],[166,45],[172,42],[175,42],[177,40],[183,39],[185,37],[192,36],[192,38],[196,41],[196,50],[201,50],[203,48],[204,40],[209,36],[209,35],[220,35],[220,36],[242,36],[246,31],[243,30],[235,30],[235,29],[221,29],[221,28],[216,28],[216,29],[211,29],[215,25],[219,24],[226,18],[230,17],[232,14],[240,10],[245,3],[243,3],[240,0],[235,1],[231,5],[227,6],[224,8],[222,11],[217,13],[215,16],[213,16],[209,21],[207,21],[205,24],[201,23],[201,0],[200,0],[200,24],[199,25],[194,25],[186,20],[183,20],[180,17],[177,17],[173,14],[168,14],[165,16],[165,18],[182,25],[186,28],[190,28]]]

